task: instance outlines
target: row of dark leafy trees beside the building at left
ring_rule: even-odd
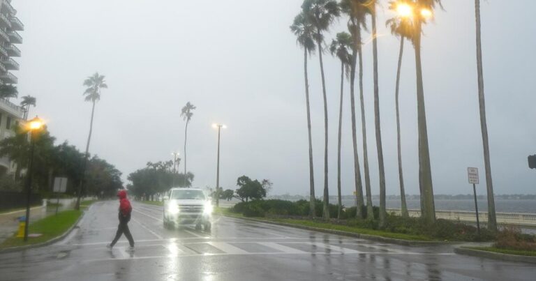
[[[13,174],[0,177],[3,190],[22,191],[27,178],[27,165],[30,158],[28,130],[21,124],[15,124],[15,135],[0,141],[0,157],[7,157],[15,162]],[[76,195],[81,181],[85,181],[83,195],[112,197],[123,187],[121,172],[106,160],[93,155],[87,162],[85,179],[82,177],[84,153],[75,146],[63,142],[54,144],[56,138],[50,135],[46,126],[35,132],[34,138],[34,192],[50,196],[53,191],[54,177],[66,177],[67,195]]]

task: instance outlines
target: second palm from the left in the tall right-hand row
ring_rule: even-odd
[[[326,83],[324,77],[324,63],[322,61],[322,42],[324,41],[323,32],[329,29],[335,17],[340,15],[340,9],[336,1],[333,0],[305,0],[301,5],[308,22],[315,27],[314,39],[318,47],[318,56],[320,59],[320,75],[322,76],[322,96],[324,98],[324,130],[325,130],[325,149],[324,149],[324,211],[322,218],[329,220],[329,190],[327,178],[327,96]]]

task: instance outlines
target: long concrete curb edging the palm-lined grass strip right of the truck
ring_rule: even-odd
[[[411,245],[427,245],[427,246],[430,246],[430,245],[452,245],[452,244],[464,243],[464,242],[457,242],[457,241],[456,242],[454,242],[454,241],[446,241],[446,242],[444,242],[444,241],[412,241],[412,240],[404,240],[404,239],[397,239],[397,238],[387,238],[387,237],[382,237],[382,236],[375,236],[375,235],[371,235],[371,234],[358,234],[358,233],[342,231],[342,230],[336,230],[336,229],[324,229],[324,228],[319,228],[319,227],[308,227],[308,226],[305,226],[305,225],[294,225],[294,224],[286,223],[286,222],[273,222],[273,221],[269,221],[269,220],[259,220],[259,219],[255,219],[255,218],[237,218],[237,217],[233,217],[233,216],[230,216],[230,215],[223,215],[223,214],[222,214],[222,216],[227,217],[227,218],[236,218],[236,219],[239,219],[239,220],[249,220],[249,221],[253,221],[253,222],[264,222],[264,223],[269,223],[271,225],[282,225],[284,227],[294,227],[294,228],[299,228],[299,229],[306,229],[306,230],[325,232],[325,233],[329,233],[329,234],[339,234],[339,235],[343,235],[343,236],[350,236],[350,237],[355,237],[355,238],[363,238],[363,239],[371,240],[371,241],[387,242],[387,243],[393,243],[393,244],[405,245],[405,246],[411,246]]]

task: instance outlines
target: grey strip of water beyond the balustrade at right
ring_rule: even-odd
[[[372,200],[373,205],[379,206],[378,199]],[[487,200],[478,200],[478,210],[486,212],[488,211]],[[330,202],[336,203],[336,200]],[[475,211],[474,199],[435,199],[435,210],[446,211]],[[387,199],[385,201],[387,208],[401,208],[400,199]],[[408,209],[419,209],[420,202],[418,199],[407,199],[406,204]],[[343,199],[343,205],[350,207],[355,206],[355,201],[349,199]],[[496,199],[495,210],[498,213],[536,213],[536,200],[532,199]]]

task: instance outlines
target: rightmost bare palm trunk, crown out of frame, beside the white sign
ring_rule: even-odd
[[[484,73],[482,70],[482,42],[480,40],[480,1],[475,0],[477,22],[477,74],[478,74],[478,105],[480,108],[480,128],[482,129],[482,145],[484,146],[484,168],[486,169],[486,188],[488,193],[488,229],[497,230],[495,214],[495,198],[491,181],[491,163],[489,160],[488,125],[486,123],[486,103],[484,100]]]

